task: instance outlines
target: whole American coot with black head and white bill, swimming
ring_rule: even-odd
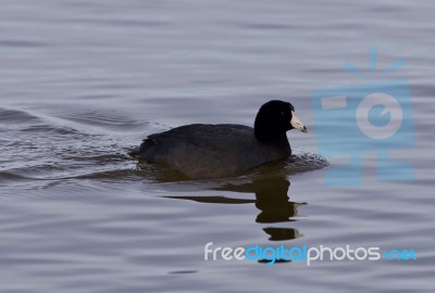
[[[295,107],[274,100],[260,107],[253,128],[235,124],[185,125],[148,136],[129,154],[192,179],[220,178],[289,156],[286,131],[294,128],[307,132]]]

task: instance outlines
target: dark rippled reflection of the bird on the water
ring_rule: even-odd
[[[284,177],[253,179],[248,183],[225,183],[214,188],[217,191],[254,193],[256,200],[235,199],[227,196],[165,196],[170,199],[190,200],[213,204],[250,204],[254,203],[260,211],[256,221],[260,224],[277,224],[295,221],[298,207],[307,203],[295,203],[287,195],[290,182]],[[263,231],[271,241],[293,240],[302,234],[294,228],[266,227]]]

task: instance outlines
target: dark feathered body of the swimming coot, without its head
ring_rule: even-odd
[[[130,155],[192,179],[241,173],[291,154],[287,136],[261,142],[253,128],[234,124],[194,124],[148,136]]]

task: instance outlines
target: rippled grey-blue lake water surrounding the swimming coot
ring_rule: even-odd
[[[3,1],[0,10],[2,292],[434,292],[433,1]],[[314,90],[391,77],[411,89],[412,181],[331,187]],[[192,123],[252,125],[290,101],[296,163],[179,180],[126,153]],[[339,120],[331,120],[331,127]],[[350,143],[350,139],[349,139]],[[320,153],[320,155],[322,155]],[[349,175],[350,176],[350,175]],[[378,246],[417,260],[204,260],[212,247]]]

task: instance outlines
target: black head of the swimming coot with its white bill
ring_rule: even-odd
[[[307,127],[295,115],[295,107],[283,101],[269,101],[263,104],[253,125],[256,138],[262,142],[273,142],[286,137],[286,131],[298,129],[307,132]]]

